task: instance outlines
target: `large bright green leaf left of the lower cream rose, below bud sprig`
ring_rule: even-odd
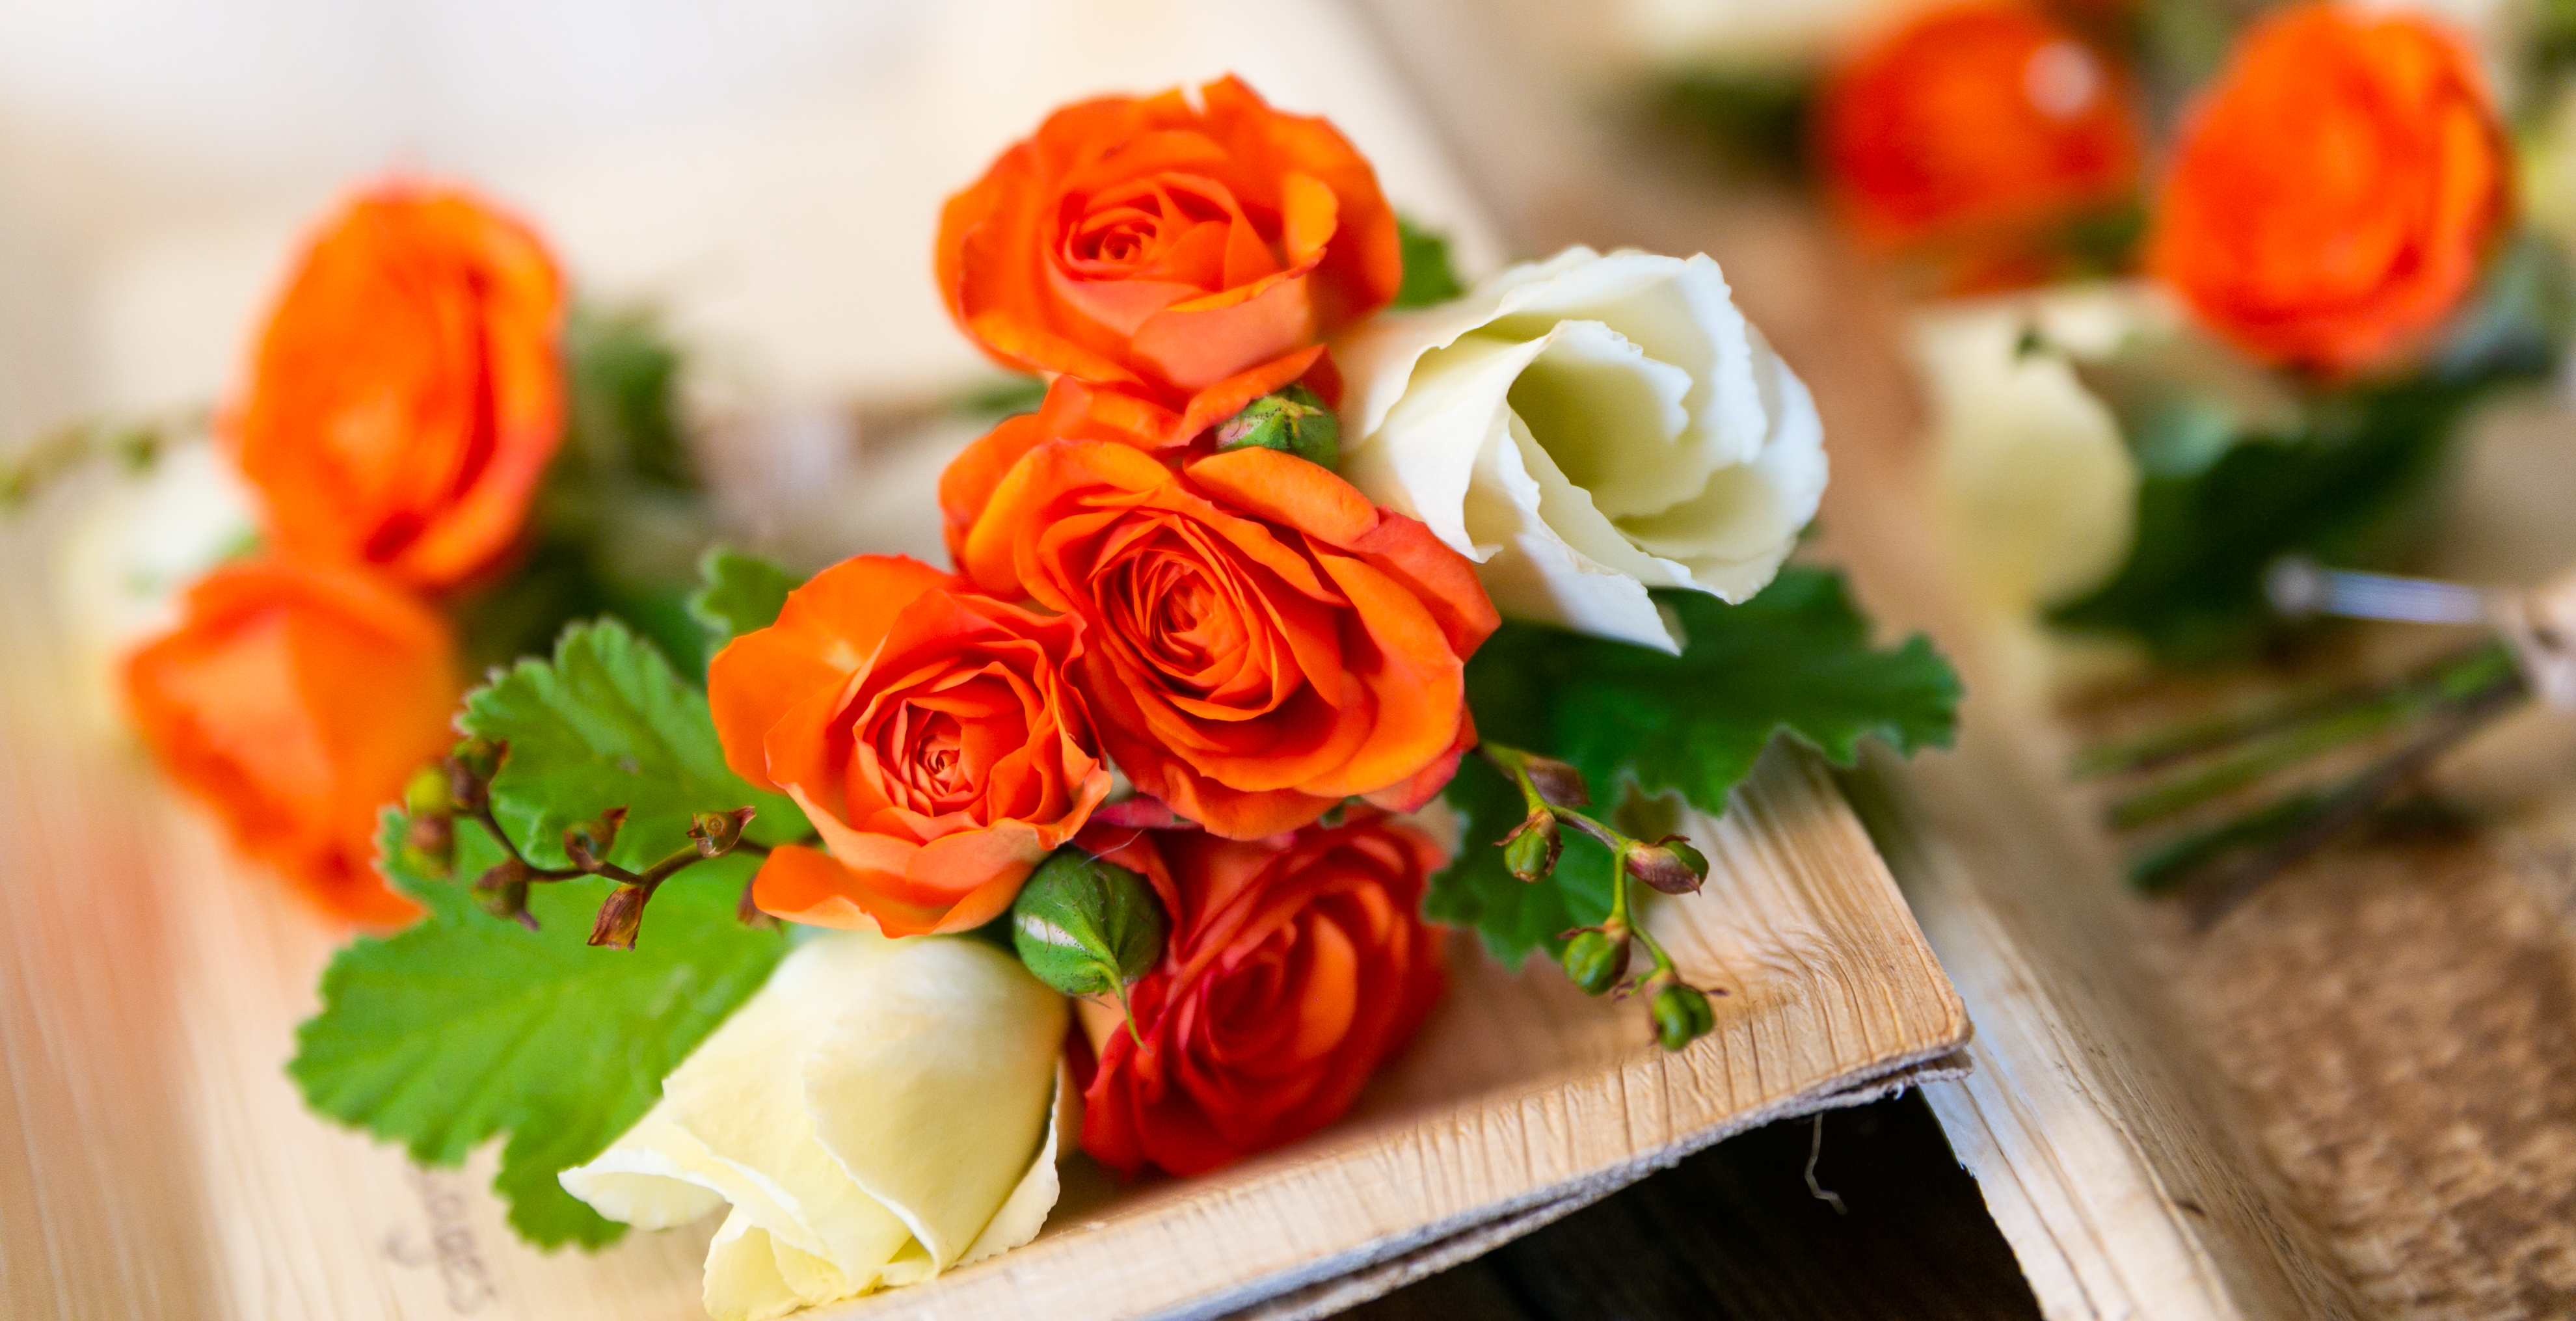
[[[662,1079],[768,981],[786,945],[734,919],[755,857],[701,863],[654,896],[644,942],[582,940],[608,881],[536,886],[541,930],[487,917],[471,878],[502,860],[456,821],[456,881],[402,868],[402,814],[386,811],[379,857],[430,914],[394,937],[358,937],[322,973],[322,1012],[296,1030],[286,1074],[332,1120],[397,1141],[420,1164],[453,1166],[507,1133],[492,1187],[510,1228],[538,1246],[613,1241],[605,1221],[556,1185],[644,1118]]]

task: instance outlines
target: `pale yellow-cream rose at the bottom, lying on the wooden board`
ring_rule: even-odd
[[[564,1190],[670,1228],[732,1208],[706,1311],[765,1321],[1036,1239],[1056,1205],[1064,997],[966,937],[832,932]]]

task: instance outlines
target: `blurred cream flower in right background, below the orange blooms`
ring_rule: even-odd
[[[1932,407],[1932,505],[1991,608],[2027,613],[2099,587],[2136,533],[2138,464],[2076,376],[2159,322],[2128,286],[1981,299],[1914,319]]]

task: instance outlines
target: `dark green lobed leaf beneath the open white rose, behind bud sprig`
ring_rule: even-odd
[[[1468,662],[1479,734],[1574,762],[1597,803],[1669,791],[1708,814],[1726,811],[1772,736],[1834,765],[1852,765],[1865,739],[1896,752],[1950,744],[1958,675],[1922,636],[1873,649],[1842,574],[1790,567],[1744,605],[1700,592],[1656,600],[1690,639],[1680,657],[1504,623]],[[1432,883],[1435,919],[1471,924],[1497,958],[1520,960],[1610,912],[1610,852],[1579,834],[1546,883],[1522,886],[1502,868],[1492,845],[1525,806],[1499,773],[1468,760],[1448,798],[1468,834]]]

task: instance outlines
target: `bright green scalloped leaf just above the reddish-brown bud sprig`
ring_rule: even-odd
[[[706,695],[618,621],[567,628],[551,662],[495,670],[466,693],[456,724],[510,744],[492,778],[492,816],[541,868],[569,865],[564,827],[616,806],[626,827],[608,860],[631,870],[688,847],[698,811],[757,809],[744,834],[762,845],[809,829],[796,803],[724,765]]]

